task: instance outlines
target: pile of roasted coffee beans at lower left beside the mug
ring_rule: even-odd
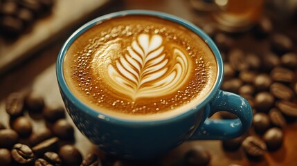
[[[35,93],[11,93],[5,104],[10,119],[0,122],[1,166],[101,165],[96,154],[83,158],[74,146],[74,129],[63,107],[48,107]],[[34,130],[35,121],[44,125]]]

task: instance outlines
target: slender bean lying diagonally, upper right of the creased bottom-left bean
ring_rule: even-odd
[[[59,138],[53,137],[44,140],[32,149],[37,156],[43,156],[46,151],[57,151],[59,149]]]

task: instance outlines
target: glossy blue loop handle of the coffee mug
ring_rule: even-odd
[[[206,118],[190,140],[224,140],[236,138],[249,130],[253,121],[251,105],[240,95],[219,90],[210,102],[210,116],[218,111],[228,111],[237,116],[232,120]]]

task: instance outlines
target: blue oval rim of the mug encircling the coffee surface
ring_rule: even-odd
[[[204,40],[204,42],[210,47],[210,50],[213,52],[213,55],[216,60],[217,64],[217,76],[215,78],[215,83],[213,84],[212,89],[210,89],[210,92],[208,95],[206,95],[201,102],[195,104],[191,109],[188,109],[187,111],[182,111],[181,113],[177,113],[176,115],[170,117],[170,118],[162,118],[162,119],[157,119],[157,120],[136,120],[136,119],[128,119],[128,118],[120,118],[120,117],[115,117],[115,116],[109,116],[107,113],[104,113],[102,111],[98,111],[96,109],[93,109],[87,104],[84,104],[81,102],[78,98],[73,95],[71,90],[69,89],[69,86],[66,84],[66,80],[64,79],[64,72],[63,72],[63,61],[64,57],[66,55],[67,50],[73,44],[75,39],[77,39],[82,33],[87,31],[89,28],[92,26],[96,26],[96,24],[100,24],[102,21],[106,21],[108,19],[113,19],[116,17],[123,17],[125,15],[148,15],[148,16],[154,16],[154,17],[159,17],[162,19],[166,19],[168,21],[175,22],[177,24],[180,24],[181,26],[184,26],[188,28],[189,30],[192,30],[193,33],[197,34],[201,39]],[[57,82],[60,87],[60,91],[63,91],[63,93],[66,94],[66,98],[71,100],[71,102],[75,103],[75,106],[78,107],[81,111],[85,111],[88,114],[91,114],[91,116],[100,118],[102,120],[107,120],[109,122],[120,122],[123,124],[127,124],[127,122],[131,123],[138,123],[138,124],[147,124],[147,123],[163,123],[163,122],[168,122],[168,120],[177,120],[183,117],[188,116],[188,114],[192,113],[192,111],[197,111],[200,110],[201,108],[205,107],[206,104],[210,102],[210,100],[213,99],[215,94],[217,93],[217,90],[219,90],[219,87],[222,84],[222,80],[224,77],[224,66],[223,66],[223,61],[221,54],[215,45],[215,42],[206,35],[206,33],[201,30],[198,26],[195,26],[195,24],[192,24],[190,21],[187,21],[185,19],[182,19],[180,17],[170,15],[168,13],[164,12],[158,12],[154,10],[123,10],[119,12],[112,12],[107,15],[103,15],[101,17],[97,17],[96,19],[92,19],[91,21],[87,22],[77,30],[64,42],[58,57],[57,57],[57,62],[56,62],[56,75],[57,75]],[[65,97],[64,97],[65,98]]]

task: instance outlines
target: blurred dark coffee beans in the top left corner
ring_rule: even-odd
[[[51,13],[54,0],[1,0],[0,32],[16,38],[29,31],[35,21]]]

